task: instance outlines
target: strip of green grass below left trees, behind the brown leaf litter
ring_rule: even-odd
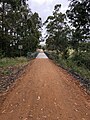
[[[25,57],[16,57],[16,58],[2,58],[0,59],[0,67],[9,67],[16,65],[25,65],[28,60]]]

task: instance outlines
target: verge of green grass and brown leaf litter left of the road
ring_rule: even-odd
[[[0,59],[0,93],[12,86],[27,64],[25,57]]]

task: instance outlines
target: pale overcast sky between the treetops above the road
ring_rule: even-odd
[[[28,0],[32,12],[38,12],[44,22],[52,14],[54,6],[61,4],[61,11],[65,12],[68,8],[68,0]]]

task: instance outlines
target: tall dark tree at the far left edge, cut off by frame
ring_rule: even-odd
[[[10,42],[15,39],[15,26],[16,19],[15,14],[18,11],[17,9],[18,0],[1,0],[0,1],[0,10],[1,10],[1,39],[0,39],[0,49],[6,54],[9,55]],[[19,7],[18,7],[19,8]],[[14,44],[14,43],[13,43]]]

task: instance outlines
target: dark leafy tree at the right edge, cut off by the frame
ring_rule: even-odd
[[[78,51],[79,43],[90,39],[90,0],[70,0],[67,16],[72,26],[72,46]]]

